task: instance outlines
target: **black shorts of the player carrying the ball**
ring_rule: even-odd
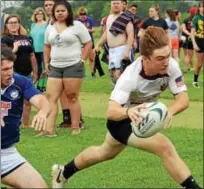
[[[107,120],[107,129],[115,140],[127,145],[128,139],[132,134],[130,123],[130,119],[124,119],[122,121]]]

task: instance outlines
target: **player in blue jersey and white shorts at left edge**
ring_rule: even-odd
[[[47,99],[31,81],[13,73],[15,56],[8,48],[1,51],[1,182],[14,188],[48,188],[41,175],[22,157],[15,144],[20,140],[24,99],[38,109],[32,128],[46,128],[50,112]],[[20,175],[20,177],[19,177]]]

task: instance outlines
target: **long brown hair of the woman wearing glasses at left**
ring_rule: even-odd
[[[27,35],[26,29],[21,25],[21,18],[20,18],[20,16],[18,16],[18,15],[16,15],[16,14],[10,14],[10,15],[8,15],[8,17],[6,18],[5,24],[4,24],[4,29],[3,29],[3,34],[6,34],[6,35],[9,34],[9,30],[8,30],[8,28],[7,28],[7,24],[8,24],[8,21],[9,21],[11,18],[17,18],[17,20],[18,20],[18,22],[19,22],[18,34],[19,34],[19,35]]]

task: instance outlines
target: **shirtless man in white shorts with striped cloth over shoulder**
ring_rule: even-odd
[[[123,1],[111,1],[111,13],[106,23],[106,31],[98,41],[95,50],[99,51],[104,43],[109,46],[109,70],[117,81],[121,74],[121,61],[131,60],[134,42],[132,13],[122,12]]]

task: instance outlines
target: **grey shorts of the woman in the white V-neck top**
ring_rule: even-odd
[[[50,78],[84,78],[85,76],[85,67],[82,62],[68,66],[65,68],[56,68],[50,65]]]

